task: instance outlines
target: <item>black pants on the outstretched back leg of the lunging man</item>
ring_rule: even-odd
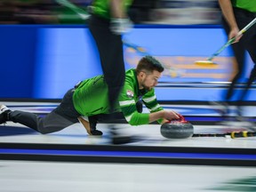
[[[80,116],[73,105],[74,89],[69,90],[60,102],[60,105],[52,110],[47,116],[41,117],[36,114],[15,110],[9,115],[9,120],[14,123],[26,125],[36,132],[43,134],[59,132],[71,124],[78,123],[77,117]]]

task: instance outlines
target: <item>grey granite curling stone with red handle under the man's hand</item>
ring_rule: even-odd
[[[178,120],[162,124],[160,132],[167,139],[187,139],[192,137],[194,127],[183,116],[180,116]]]

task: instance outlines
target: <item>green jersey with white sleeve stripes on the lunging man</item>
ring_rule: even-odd
[[[139,89],[135,69],[125,73],[124,88],[119,96],[116,111],[123,112],[126,121],[132,125],[149,124],[149,114],[139,113],[136,102],[142,99],[148,110],[156,112],[163,110],[156,100],[155,90],[149,92]],[[73,95],[74,106],[82,116],[108,114],[108,86],[103,76],[95,76],[84,80]],[[159,119],[160,123],[161,119]]]

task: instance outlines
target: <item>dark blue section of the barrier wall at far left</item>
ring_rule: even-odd
[[[37,28],[0,25],[0,98],[33,96]]]

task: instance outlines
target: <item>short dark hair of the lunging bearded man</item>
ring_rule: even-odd
[[[156,60],[156,58],[149,55],[141,58],[136,68],[137,74],[139,74],[141,71],[153,73],[154,70],[162,73],[164,71],[164,67],[159,60]]]

